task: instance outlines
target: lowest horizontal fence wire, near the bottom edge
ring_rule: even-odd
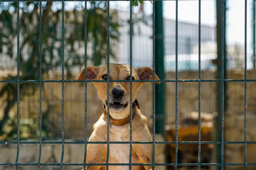
[[[38,163],[17,163],[18,165],[23,165],[23,166],[38,166]],[[40,164],[42,166],[60,166],[61,164],[60,163],[42,163]],[[83,163],[63,163],[63,166],[83,166],[84,164]],[[88,166],[95,166],[95,165],[100,165],[100,166],[106,166],[106,164],[86,164]],[[111,164],[109,163],[108,164],[109,166],[129,166],[129,164]],[[152,166],[152,163],[148,163],[148,164],[131,164],[132,166]],[[198,166],[198,163],[162,163],[162,164],[157,164],[155,163],[154,164],[155,166]],[[202,163],[200,164],[201,166],[221,166],[221,164],[217,164],[217,163]],[[245,164],[223,164],[224,166],[245,166]],[[0,163],[0,166],[15,166],[15,163]],[[256,166],[256,164],[247,164],[247,166]]]

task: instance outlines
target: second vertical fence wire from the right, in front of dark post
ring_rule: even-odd
[[[224,0],[221,0],[221,170],[224,170]]]

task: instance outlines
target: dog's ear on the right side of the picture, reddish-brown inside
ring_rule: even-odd
[[[137,74],[140,80],[153,80],[153,70],[149,67],[138,67],[137,68]],[[157,74],[155,74],[155,80],[159,80],[159,77]],[[142,85],[146,82],[141,82]],[[160,84],[160,82],[155,82],[157,85]]]

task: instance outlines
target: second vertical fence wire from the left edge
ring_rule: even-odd
[[[42,0],[39,2],[39,156],[38,170],[41,169],[42,153]]]

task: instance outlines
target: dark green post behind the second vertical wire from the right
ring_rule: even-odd
[[[224,5],[224,27],[223,27],[223,36],[224,36],[224,79],[226,79],[226,56],[227,56],[227,45],[226,45],[226,0],[223,0],[223,5]],[[221,79],[222,77],[222,72],[221,72],[221,48],[222,48],[222,36],[221,36],[221,0],[216,0],[216,16],[217,16],[217,25],[216,25],[216,38],[217,38],[217,59],[216,59],[216,65],[217,65],[217,75],[216,79]],[[220,142],[221,141],[221,93],[222,93],[222,85],[221,82],[216,82],[217,83],[217,98],[216,98],[216,103],[217,103],[217,112],[218,116],[216,117],[216,122],[215,122],[215,130],[216,130],[216,141]],[[227,96],[226,96],[226,82],[224,82],[224,113],[225,110],[227,109]],[[216,145],[216,163],[221,163],[221,145],[217,144]],[[221,170],[221,167],[218,166],[217,170]]]

